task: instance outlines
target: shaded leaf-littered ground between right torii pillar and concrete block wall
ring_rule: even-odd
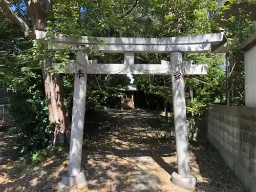
[[[209,146],[193,147],[195,164],[200,172],[201,181],[197,191],[247,191],[228,168],[215,148]],[[203,181],[203,182],[202,182]]]

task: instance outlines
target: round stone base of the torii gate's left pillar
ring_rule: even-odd
[[[85,185],[86,186],[86,174],[84,174],[83,171],[81,171],[76,176],[71,176],[68,173],[63,174],[61,176],[61,183],[66,186],[74,186],[74,185]]]

